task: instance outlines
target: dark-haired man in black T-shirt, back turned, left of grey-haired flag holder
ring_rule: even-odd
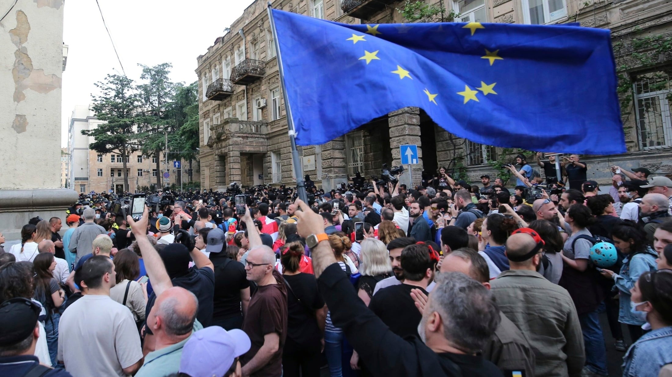
[[[439,253],[425,244],[409,245],[401,252],[401,269],[404,282],[388,286],[374,294],[369,304],[393,333],[400,337],[418,335],[421,313],[415,307],[411,289],[427,294],[427,285],[434,277]],[[396,275],[396,271],[394,274]],[[377,284],[376,284],[377,285]]]

